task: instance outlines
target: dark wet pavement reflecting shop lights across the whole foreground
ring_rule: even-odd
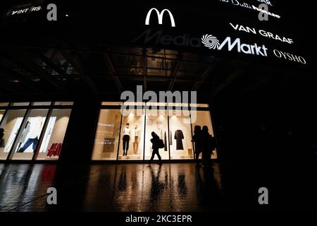
[[[194,163],[152,164],[0,164],[1,212],[316,209],[313,171],[279,165],[263,168]],[[311,174],[308,174],[311,172]],[[49,187],[57,205],[46,204]],[[258,189],[269,190],[269,205],[259,205]]]

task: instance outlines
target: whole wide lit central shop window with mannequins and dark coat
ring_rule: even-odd
[[[213,135],[209,105],[130,103],[123,111],[121,102],[103,102],[94,140],[92,160],[149,160],[151,132],[164,142],[162,160],[194,160],[194,126],[208,126]],[[191,106],[192,107],[192,106]],[[213,150],[211,158],[217,158]]]

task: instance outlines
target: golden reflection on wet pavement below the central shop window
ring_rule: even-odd
[[[217,169],[205,172],[194,164],[93,166],[83,206],[108,211],[209,210],[220,204]]]

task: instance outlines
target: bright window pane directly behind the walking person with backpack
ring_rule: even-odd
[[[147,110],[147,131],[145,133],[145,150],[144,159],[149,160],[152,155],[151,133],[156,133],[163,141],[165,147],[159,149],[162,160],[168,160],[168,145],[170,135],[168,134],[168,114],[165,109],[149,109]],[[157,160],[157,156],[154,157]]]

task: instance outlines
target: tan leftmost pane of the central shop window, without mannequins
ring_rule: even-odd
[[[101,109],[92,160],[117,159],[120,122],[120,109]]]

